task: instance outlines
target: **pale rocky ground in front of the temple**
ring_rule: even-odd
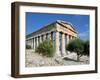
[[[82,56],[80,62],[76,61],[75,53],[68,53],[66,57],[46,57],[38,53],[34,53],[33,50],[26,50],[25,53],[25,66],[26,67],[40,67],[40,66],[61,66],[61,65],[81,65],[89,64],[89,57]]]

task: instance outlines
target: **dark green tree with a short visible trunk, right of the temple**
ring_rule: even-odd
[[[74,39],[69,42],[69,44],[66,46],[66,50],[70,52],[75,52],[77,54],[77,61],[80,60],[80,57],[84,55],[84,41],[80,39]]]

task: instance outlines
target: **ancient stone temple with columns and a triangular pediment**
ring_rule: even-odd
[[[57,56],[66,55],[65,46],[72,39],[77,37],[77,32],[73,28],[73,25],[69,22],[57,20],[53,23],[45,25],[41,29],[28,34],[26,36],[26,44],[35,48],[45,39],[52,39],[53,46],[55,48],[55,54]]]

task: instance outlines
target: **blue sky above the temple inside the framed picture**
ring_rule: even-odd
[[[89,15],[26,12],[26,34],[32,33],[56,20],[72,23],[81,39],[89,39]]]

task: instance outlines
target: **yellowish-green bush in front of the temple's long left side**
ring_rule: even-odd
[[[51,40],[45,40],[38,45],[35,51],[44,56],[53,57],[53,42]]]

